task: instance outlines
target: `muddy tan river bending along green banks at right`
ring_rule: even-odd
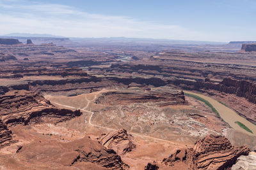
[[[212,99],[211,97],[204,96],[202,94],[197,94],[197,93],[194,93],[194,92],[189,92],[189,91],[186,91],[186,90],[184,90],[184,92],[186,92],[188,94],[193,94],[193,95],[198,96],[198,97],[201,97],[202,99],[205,99],[206,101],[211,103],[212,106],[220,113],[220,117],[225,122],[227,122],[230,125],[230,127],[252,135],[252,133],[247,132],[246,130],[244,130],[238,124],[235,123],[236,121],[239,121],[242,124],[246,125],[246,127],[248,127],[253,132],[254,135],[256,134],[256,125],[252,124],[251,122],[249,122],[245,118],[239,116],[236,113],[236,111],[234,111],[234,110],[228,108],[227,106],[219,103],[218,101]]]

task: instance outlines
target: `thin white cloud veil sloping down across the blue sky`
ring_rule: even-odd
[[[125,16],[86,13],[61,4],[23,4],[0,0],[0,34],[29,32],[68,37],[138,37],[221,41],[223,37]],[[1,10],[2,9],[2,10]]]

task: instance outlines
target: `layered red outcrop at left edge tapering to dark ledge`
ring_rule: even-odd
[[[0,117],[7,126],[58,123],[81,115],[80,111],[58,109],[40,94],[26,90],[14,90],[0,96]]]

